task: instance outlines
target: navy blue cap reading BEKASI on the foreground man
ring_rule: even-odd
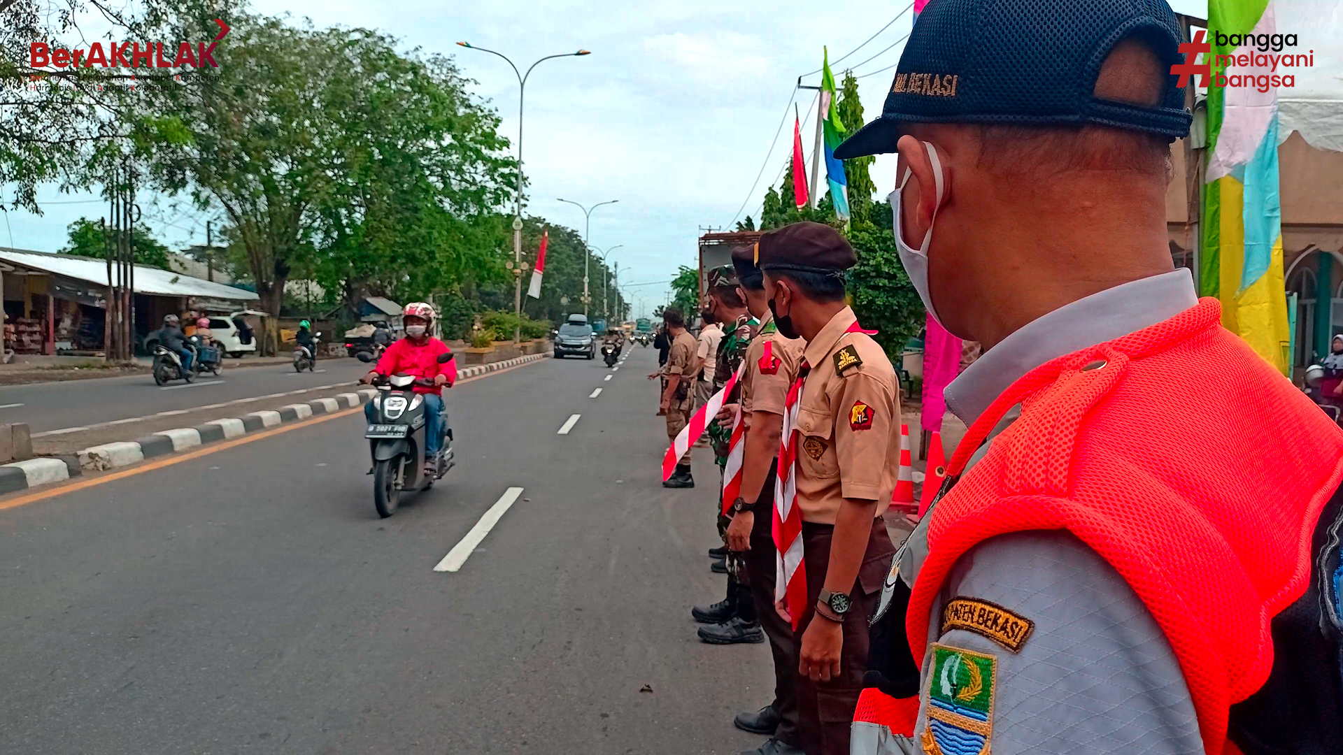
[[[894,152],[907,122],[1101,124],[1187,134],[1193,116],[1175,75],[1159,107],[1093,95],[1105,56],[1131,36],[1151,46],[1163,67],[1183,62],[1166,0],[932,0],[900,55],[881,117],[835,157]]]

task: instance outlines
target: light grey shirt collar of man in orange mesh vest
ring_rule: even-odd
[[[1197,304],[1194,277],[1186,267],[1066,304],[1031,320],[967,367],[943,394],[947,408],[971,425],[999,394],[1041,364],[1150,328]]]

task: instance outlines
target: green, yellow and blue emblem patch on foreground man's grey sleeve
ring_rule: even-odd
[[[935,643],[928,680],[928,755],[987,755],[998,658]]]

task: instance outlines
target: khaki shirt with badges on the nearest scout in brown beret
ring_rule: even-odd
[[[843,498],[890,505],[900,469],[900,391],[877,341],[846,333],[857,321],[839,310],[803,356],[811,372],[798,411],[798,506],[802,520],[834,524]]]

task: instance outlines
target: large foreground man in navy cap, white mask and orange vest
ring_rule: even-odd
[[[1183,34],[1163,0],[933,0],[835,150],[898,152],[896,250],[983,347],[855,754],[1339,751],[1343,431],[1172,263]]]

